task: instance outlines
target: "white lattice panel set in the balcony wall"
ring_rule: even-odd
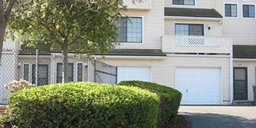
[[[220,39],[218,37],[176,37],[176,45],[187,46],[219,46]]]

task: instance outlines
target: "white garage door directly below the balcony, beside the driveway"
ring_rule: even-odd
[[[181,104],[221,104],[220,68],[176,68]]]

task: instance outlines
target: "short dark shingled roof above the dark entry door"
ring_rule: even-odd
[[[256,45],[233,45],[233,58],[256,59]]]

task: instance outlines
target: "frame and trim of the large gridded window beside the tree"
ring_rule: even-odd
[[[126,41],[118,41],[117,40],[117,42],[118,43],[138,43],[138,44],[142,44],[143,43],[143,17],[142,16],[132,16],[132,17],[126,17],[126,16],[123,16],[122,18],[125,18],[125,26],[126,26]],[[129,21],[129,19],[132,19],[132,18],[140,18],[141,19],[141,42],[128,42],[127,41],[127,24],[128,24],[128,22],[132,22],[132,21]],[[120,26],[121,27],[121,29],[122,29],[122,26]],[[121,31],[120,31],[121,32]]]

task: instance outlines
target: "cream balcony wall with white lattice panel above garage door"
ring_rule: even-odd
[[[231,38],[209,36],[162,36],[163,52],[230,54]]]

